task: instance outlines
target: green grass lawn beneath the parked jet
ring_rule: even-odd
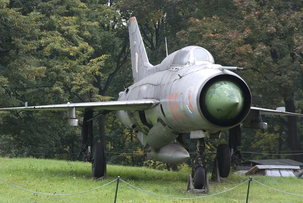
[[[92,180],[89,163],[35,159],[0,158],[0,178],[20,187],[43,192],[67,194],[82,192],[104,185],[120,176],[141,189],[173,197],[195,197],[185,192],[188,172],[165,172],[147,168],[108,166],[108,178]],[[303,194],[303,180],[253,176],[271,187]],[[248,179],[231,175],[230,182],[211,183],[211,194],[224,191]],[[116,182],[92,192],[72,196],[45,196],[27,192],[0,181],[0,202],[114,202]],[[245,202],[247,184],[232,191],[205,199],[179,200],[156,197],[130,188],[120,182],[117,202]],[[249,202],[303,202],[303,197],[282,194],[255,182],[250,184]]]

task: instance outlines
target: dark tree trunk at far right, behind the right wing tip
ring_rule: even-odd
[[[293,97],[289,100],[284,99],[286,111],[295,113]],[[286,139],[292,154],[300,153],[297,151],[302,151],[303,147],[299,142],[297,135],[297,124],[296,116],[287,116],[288,117],[288,137]],[[293,159],[299,162],[303,162],[303,155],[293,155]]]

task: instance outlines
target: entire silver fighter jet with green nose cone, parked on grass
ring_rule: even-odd
[[[0,110],[69,111],[71,126],[78,124],[75,110],[83,110],[82,153],[91,161],[94,177],[102,177],[106,170],[105,141],[93,145],[92,139],[92,121],[99,115],[117,111],[121,122],[135,130],[148,155],[164,163],[180,164],[189,158],[182,138],[190,134],[191,139],[197,139],[197,156],[192,165],[196,189],[203,188],[206,182],[206,132],[210,138],[219,138],[222,131],[229,130],[229,144],[220,144],[217,149],[219,172],[224,178],[229,175],[232,159],[239,155],[241,123],[244,128],[266,129],[261,115],[301,115],[285,112],[284,107],[277,110],[252,107],[248,86],[232,72],[241,68],[215,64],[204,48],[185,47],[160,64],[151,65],[135,17],[129,19],[128,27],[134,84],[119,93],[118,101],[26,105]],[[93,115],[93,111],[100,110],[102,113]]]

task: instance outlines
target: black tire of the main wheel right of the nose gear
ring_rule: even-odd
[[[227,178],[231,166],[231,155],[228,144],[219,144],[217,149],[217,157],[220,177]]]

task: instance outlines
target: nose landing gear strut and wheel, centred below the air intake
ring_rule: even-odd
[[[194,159],[192,165],[192,183],[195,189],[203,189],[205,187],[206,182],[206,173],[205,173],[205,166],[206,166],[206,151],[205,151],[205,141],[204,138],[198,138],[197,143],[197,157]]]

